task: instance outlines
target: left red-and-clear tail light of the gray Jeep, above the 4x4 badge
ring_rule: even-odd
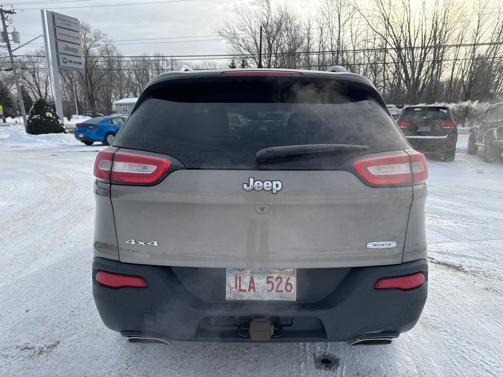
[[[171,166],[167,158],[105,149],[95,161],[95,177],[107,182],[152,183]]]

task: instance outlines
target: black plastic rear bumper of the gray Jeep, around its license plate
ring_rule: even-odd
[[[240,335],[241,328],[252,317],[269,318],[281,335],[276,342],[351,341],[371,334],[399,333],[410,330],[419,319],[427,298],[428,265],[424,259],[396,265],[307,269],[298,273],[302,302],[226,302],[224,268],[171,267],[121,263],[104,258],[93,262],[93,296],[107,327],[124,336],[145,335],[164,340],[249,342]],[[207,281],[207,299],[187,287],[180,269],[190,276],[212,276]],[[116,273],[140,275],[147,288],[107,288],[96,281],[103,269]],[[317,272],[333,272],[331,282],[314,277]],[[406,275],[418,271],[425,283],[415,289],[374,289],[380,277]],[[313,276],[312,279],[309,276]],[[326,275],[325,275],[326,276]],[[307,280],[307,281],[306,281]],[[330,285],[335,288],[329,291]],[[300,286],[311,292],[326,292],[315,301],[300,292]]]

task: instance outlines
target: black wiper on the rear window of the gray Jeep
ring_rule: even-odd
[[[304,145],[285,145],[282,147],[269,147],[257,152],[256,158],[259,162],[265,162],[273,157],[293,156],[297,154],[307,154],[316,152],[334,152],[365,150],[366,145],[351,144],[304,144]]]

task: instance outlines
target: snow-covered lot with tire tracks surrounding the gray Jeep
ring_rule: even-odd
[[[467,135],[454,162],[429,161],[420,321],[391,345],[352,348],[126,343],[91,292],[92,170],[105,146],[14,134],[0,141],[0,376],[503,375],[503,165],[467,155]]]

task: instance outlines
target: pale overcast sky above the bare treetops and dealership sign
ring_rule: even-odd
[[[212,28],[232,18],[234,5],[251,7],[251,0],[183,0],[174,3],[148,4],[160,0],[14,0],[18,12],[12,17],[12,27],[21,33],[21,43],[42,34],[40,9],[56,11],[86,21],[117,41],[124,55],[160,52],[166,55],[225,54],[227,46],[215,40]],[[32,4],[27,4],[32,3]],[[37,4],[35,4],[37,3]],[[118,6],[118,4],[142,3]],[[315,12],[320,0],[289,0],[290,7],[299,15]],[[96,7],[113,5],[110,7]],[[57,8],[61,7],[61,8]],[[82,8],[62,8],[82,7]],[[5,6],[4,9],[9,9]],[[21,11],[23,10],[23,11]],[[199,37],[209,36],[209,37]],[[153,38],[194,37],[180,39]],[[123,41],[145,39],[144,41]],[[204,40],[204,41],[200,41]],[[189,42],[194,41],[194,42]],[[42,46],[42,38],[19,49],[22,54]],[[163,42],[163,43],[152,43]]]

